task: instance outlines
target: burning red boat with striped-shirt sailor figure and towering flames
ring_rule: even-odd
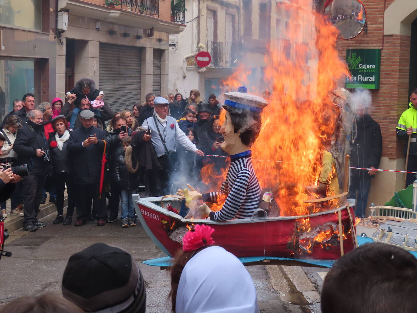
[[[267,90],[246,84],[249,68],[243,63],[221,82],[226,106],[259,109],[256,141],[242,147],[241,131],[226,108],[221,122],[225,127],[232,122],[235,132],[221,147],[230,149],[231,165],[221,175],[202,170],[219,189],[202,195],[188,186],[179,196],[138,200],[142,225],[168,255],[181,248],[181,235],[197,224],[213,227],[216,243],[238,257],[334,260],[356,245],[353,210],[346,202],[353,113],[349,91],[339,86],[349,71],[336,50],[338,31],[313,9],[312,0],[276,6],[282,19],[280,36],[268,44],[264,57]],[[246,100],[257,98],[268,106],[230,92],[242,84],[248,87]],[[266,99],[256,97],[262,94]],[[235,167],[236,159],[246,167]],[[236,175],[243,168],[245,175]]]

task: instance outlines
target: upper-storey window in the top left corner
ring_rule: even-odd
[[[42,0],[0,0],[0,23],[42,29]]]

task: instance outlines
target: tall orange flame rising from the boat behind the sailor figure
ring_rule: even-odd
[[[337,132],[339,109],[327,94],[349,75],[336,49],[339,31],[310,8],[311,0],[276,3],[282,18],[276,32],[281,38],[267,45],[264,58],[264,79],[271,96],[262,113],[261,132],[251,147],[259,183],[273,189],[281,216],[309,214],[304,186],[319,176],[322,139],[330,140]],[[247,83],[248,73],[248,68],[239,66],[223,81],[225,91]],[[259,96],[264,92],[250,87]],[[305,223],[308,229],[308,219]]]

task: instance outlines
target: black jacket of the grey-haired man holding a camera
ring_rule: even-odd
[[[28,164],[30,175],[48,175],[52,164],[45,162],[43,156],[36,156],[37,149],[45,149],[49,153],[49,145],[43,133],[43,125],[38,125],[28,120],[18,130],[16,140],[13,143],[13,150],[18,153],[18,161],[13,165]]]

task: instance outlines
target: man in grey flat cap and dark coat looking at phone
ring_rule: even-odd
[[[93,126],[94,113],[84,110],[80,113],[81,127],[71,131],[68,139],[68,151],[73,160],[73,183],[77,194],[77,222],[75,226],[85,224],[89,216],[88,194],[93,197],[93,214],[97,225],[106,224],[106,197],[100,197],[101,158],[106,132]]]

